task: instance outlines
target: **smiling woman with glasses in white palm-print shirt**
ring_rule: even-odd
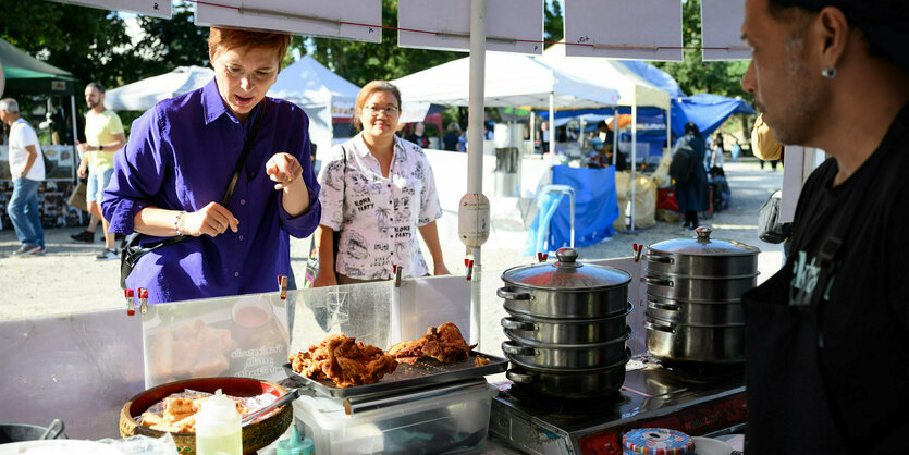
[[[361,132],[332,149],[319,175],[322,218],[312,286],[390,280],[395,268],[402,276],[449,274],[435,226],[442,208],[432,169],[419,146],[395,135],[401,93],[388,82],[370,82],[355,109]],[[417,232],[432,255],[431,269]]]

